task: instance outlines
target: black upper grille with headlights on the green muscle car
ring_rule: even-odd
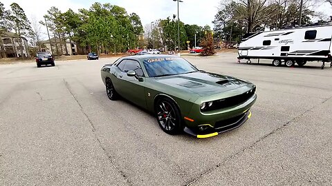
[[[219,110],[226,107],[232,107],[234,105],[239,105],[241,103],[244,103],[248,101],[256,92],[256,87],[252,88],[252,90],[244,92],[243,94],[239,94],[237,96],[232,96],[225,99],[219,99],[216,101],[213,101],[211,107],[207,107],[206,110],[203,110],[203,112],[211,111],[211,110]]]

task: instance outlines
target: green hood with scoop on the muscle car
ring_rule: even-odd
[[[203,71],[156,77],[155,81],[185,92],[193,92],[199,96],[210,96],[251,84],[232,76],[223,76]]]

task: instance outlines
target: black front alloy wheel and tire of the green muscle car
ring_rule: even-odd
[[[160,99],[155,105],[156,118],[167,134],[178,134],[181,129],[181,114],[171,99]]]

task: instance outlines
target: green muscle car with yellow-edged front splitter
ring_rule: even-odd
[[[153,112],[167,134],[185,131],[198,138],[241,126],[251,116],[256,86],[198,70],[179,56],[124,56],[101,70],[107,96]]]

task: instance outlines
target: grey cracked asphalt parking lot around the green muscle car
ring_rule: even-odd
[[[331,185],[332,68],[185,58],[255,83],[250,120],[212,138],[169,136],[107,98],[100,68],[115,59],[0,65],[0,185]]]

